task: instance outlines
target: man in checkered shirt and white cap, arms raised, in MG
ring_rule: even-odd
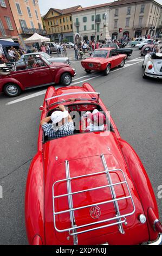
[[[59,111],[53,112],[50,117],[44,118],[40,123],[45,135],[49,138],[60,138],[74,133],[75,128],[72,117],[70,117],[63,105],[58,108]],[[51,124],[49,123],[50,120],[52,121]]]

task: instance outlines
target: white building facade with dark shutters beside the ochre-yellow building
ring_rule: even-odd
[[[72,14],[74,42],[97,40],[102,36],[103,23],[109,20],[109,3],[76,10]]]

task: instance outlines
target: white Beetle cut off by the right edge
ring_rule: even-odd
[[[142,64],[144,67],[143,78],[162,78],[162,53],[148,53]]]

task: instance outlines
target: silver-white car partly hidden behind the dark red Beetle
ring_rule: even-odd
[[[50,55],[47,54],[46,52],[33,52],[33,53],[23,54],[21,58],[17,60],[17,63],[22,62],[22,60],[28,59],[30,56],[33,56],[35,58],[36,55],[39,55],[40,58],[48,60],[48,62],[50,63],[62,62],[62,63],[70,64],[70,60],[68,57],[50,57]]]

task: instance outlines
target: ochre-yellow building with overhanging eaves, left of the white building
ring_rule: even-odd
[[[63,39],[67,39],[68,42],[73,42],[72,13],[80,8],[82,8],[81,5],[63,10],[49,9],[43,16],[43,21],[51,41],[62,42]]]

